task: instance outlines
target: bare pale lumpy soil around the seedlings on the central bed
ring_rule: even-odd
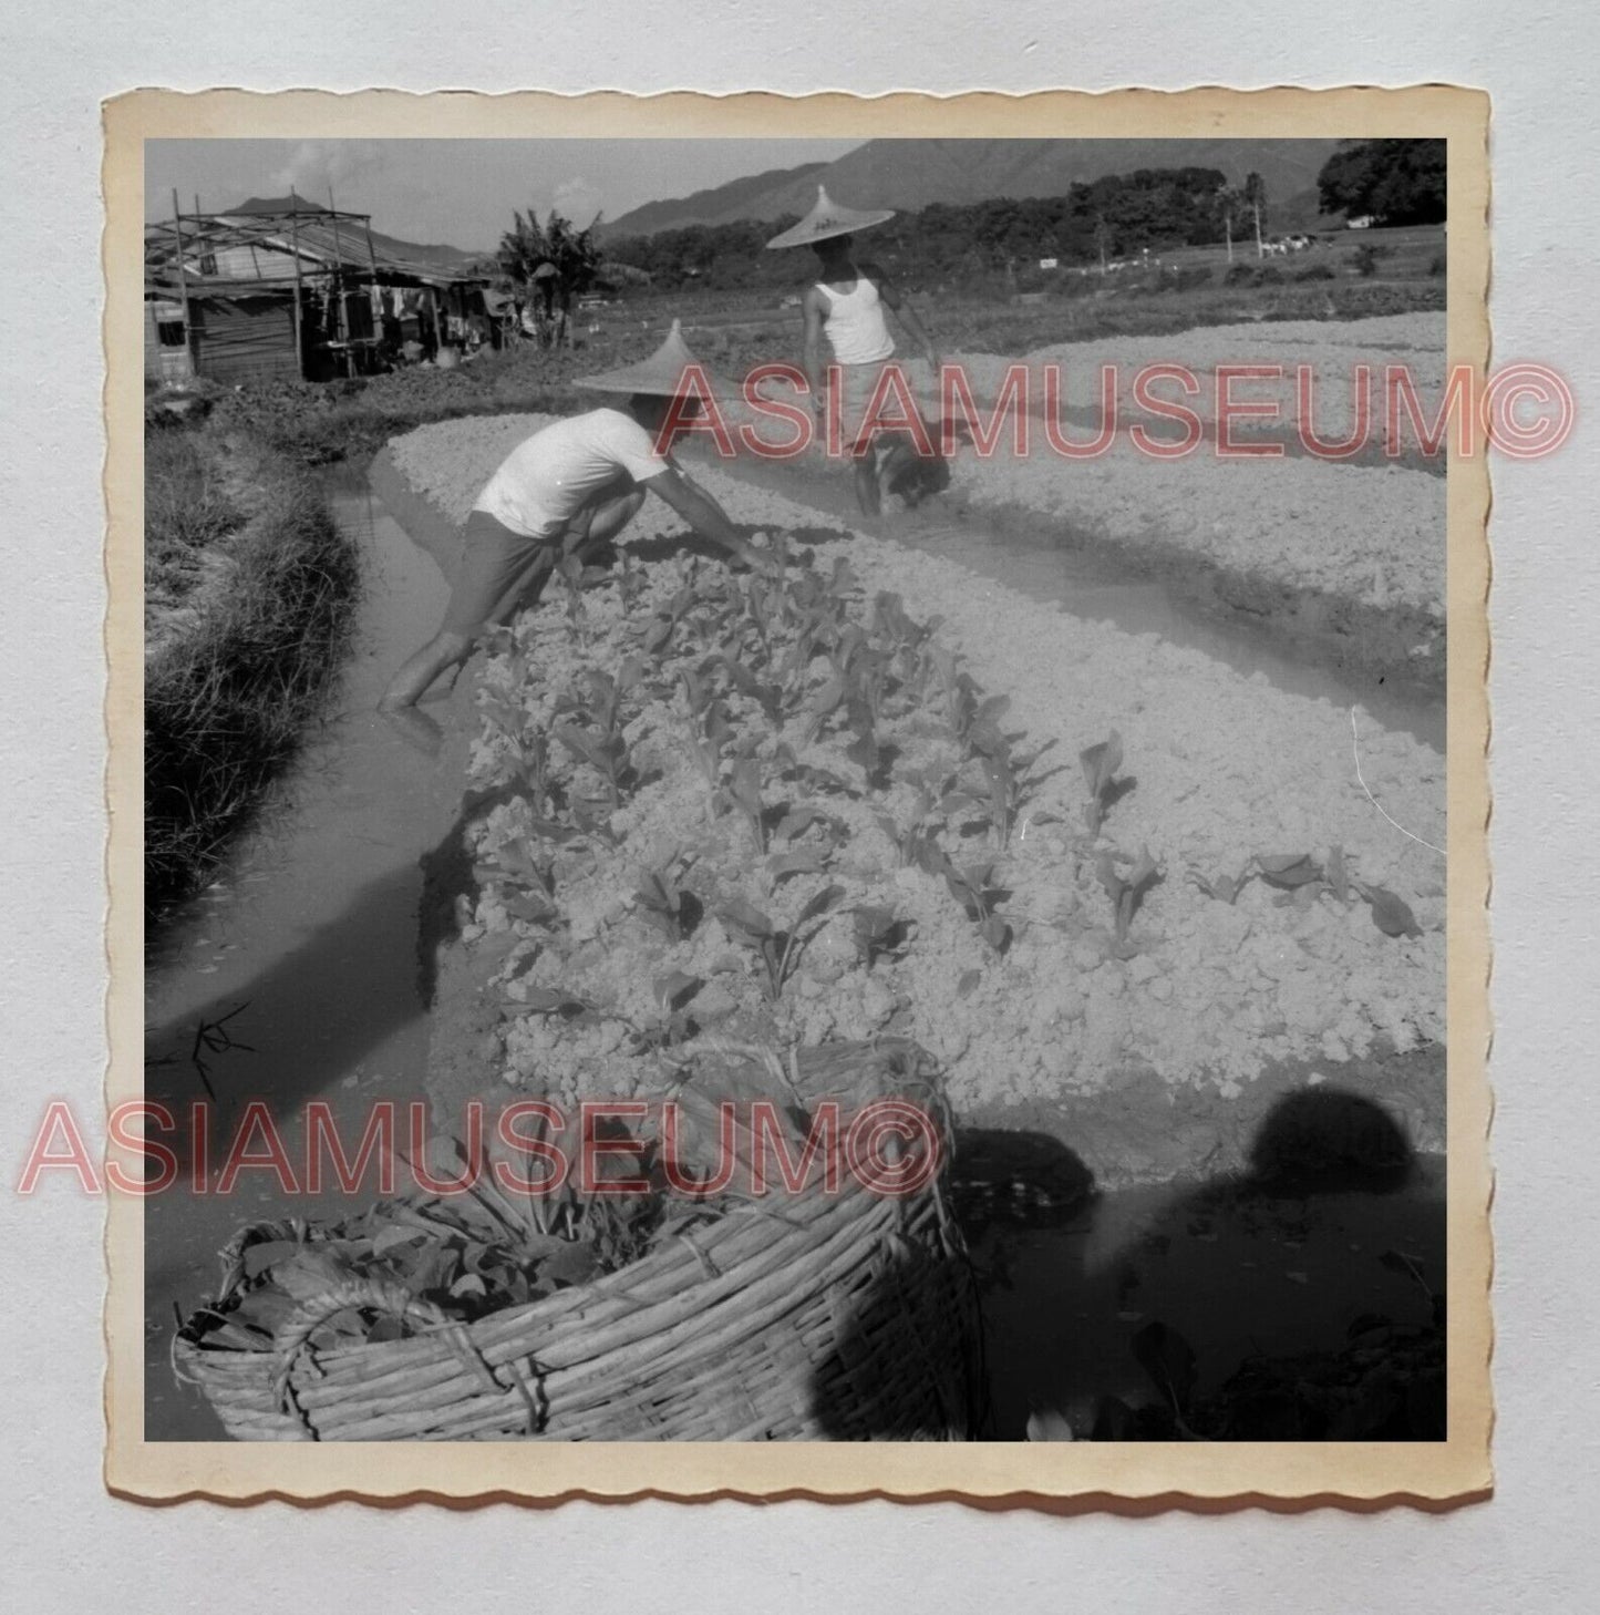
[[[394,464],[444,517],[460,520],[504,452],[536,423],[497,418],[425,428],[394,444]],[[1442,1147],[1442,859],[1397,833],[1361,790],[1350,712],[1272,690],[1264,678],[1240,678],[1153,635],[1122,635],[1099,623],[1072,623],[1067,631],[1059,612],[948,562],[870,535],[819,528],[815,512],[731,478],[707,473],[707,483],[736,520],[802,539],[820,575],[848,559],[864,607],[888,588],[903,594],[914,617],[941,617],[940,638],[965,654],[985,690],[1012,696],[1006,725],[1025,728],[1025,745],[1056,740],[1070,764],[1079,749],[1117,728],[1125,772],[1135,780],[1098,837],[1082,825],[1083,782],[1075,767],[1040,787],[1028,809],[1056,822],[1022,833],[995,875],[1012,893],[998,904],[1014,927],[1004,956],[983,942],[945,882],[899,866],[873,812],[830,803],[848,825],[848,856],[815,877],[783,880],[781,890],[757,888],[752,898],[777,919],[793,921],[791,909],[835,880],[846,888],[846,908],[885,906],[912,921],[915,943],[904,959],[862,969],[848,924],[835,916],[806,953],[793,1003],[780,1005],[769,1030],[807,1040],[877,1030],[912,1035],[943,1061],[964,1116],[1037,1121],[1074,1150],[1083,1145],[1087,1153],[1079,1153],[1103,1185],[1171,1181],[1240,1161],[1250,1122],[1272,1100],[1322,1084],[1379,1097],[1413,1148]],[[672,552],[673,531],[647,505],[628,535],[651,557],[630,620],[646,620],[688,577],[689,560]],[[486,667],[492,699],[547,712],[583,667],[615,672],[623,614],[614,596],[612,583],[583,596],[581,630],[554,602],[521,619],[515,648]],[[1400,824],[1442,845],[1443,759],[1411,736],[1355,717],[1368,785]],[[665,707],[638,714],[630,738],[652,754],[651,770],[659,772],[617,825],[631,864],[664,858],[668,841],[680,843],[701,814],[672,735]],[[783,736],[790,738],[786,728]],[[765,745],[775,741],[777,732]],[[917,736],[896,741],[907,761],[915,756]],[[836,749],[823,748],[827,764],[848,774]],[[491,788],[496,756],[492,741],[478,746],[476,790]],[[909,795],[898,780],[873,806],[904,816]],[[513,803],[497,801],[468,816],[475,820],[468,846],[480,864],[492,864],[496,849],[523,833],[517,812]],[[1253,882],[1230,904],[1190,879],[1190,870],[1204,880],[1232,875],[1253,853],[1306,851],[1326,859],[1334,846],[1363,880],[1403,896],[1418,937],[1384,935],[1366,904],[1340,903],[1326,890],[1292,900]],[[1124,958],[1112,946],[1096,864],[1109,853],[1125,869],[1145,848],[1162,877],[1138,911],[1132,956]],[[970,853],[961,851],[957,862],[993,856],[982,838]],[[707,911],[727,900],[736,875],[749,874],[751,849],[743,869],[735,862],[723,838],[723,851],[702,864]],[[589,879],[572,891],[578,951],[559,969],[551,961],[551,982],[538,959],[526,963],[531,938],[496,895],[483,887],[462,893],[460,933],[441,964],[441,1005],[505,998],[510,975],[526,977],[526,988],[560,987],[602,1000],[638,1022],[651,1009],[651,980],[678,971],[707,984],[702,992],[717,1021],[748,1034],[741,1016],[770,1014],[752,977],[738,967],[738,937],[710,921],[676,951],[662,953],[638,921],[631,880],[620,870],[586,887]],[[727,967],[730,959],[735,969]],[[492,1080],[489,1066],[515,1085],[617,1085],[625,1043],[617,1026],[575,1030],[557,1017],[562,1030],[552,1035],[551,1022],[547,1014],[512,1011],[496,1027],[476,1019],[457,1026],[447,1013],[438,1022],[436,1068],[473,1079],[476,1092]],[[1397,1063],[1397,1056],[1405,1058]],[[1363,1074],[1363,1061],[1377,1063],[1374,1076]],[[1096,1110],[1127,1118],[1127,1126],[1104,1126],[1090,1137],[1085,1116]]]

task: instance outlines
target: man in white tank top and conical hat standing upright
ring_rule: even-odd
[[[917,454],[904,434],[880,444],[875,441],[877,430],[862,431],[869,425],[867,405],[894,357],[894,338],[883,318],[885,308],[894,310],[906,334],[922,349],[935,380],[940,373],[938,349],[915,310],[901,299],[877,263],[857,263],[854,258],[854,231],[882,224],[893,216],[893,208],[864,213],[840,207],[817,186],[817,205],[810,213],[767,242],[769,247],[812,247],[817,254],[820,275],[802,302],[806,378],[819,426],[827,426],[830,396],[838,401],[840,443],[854,462],[856,501],[865,515],[882,510],[885,493],[896,491],[907,504],[915,504],[924,494],[935,493],[949,481],[945,462]],[[833,354],[831,378],[823,370],[823,339]],[[904,371],[901,376],[904,378]],[[831,394],[830,380],[835,383]],[[911,397],[909,384],[906,397]],[[882,412],[893,413],[896,407],[894,394],[880,399]]]

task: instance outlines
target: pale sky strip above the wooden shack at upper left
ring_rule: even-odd
[[[371,213],[404,241],[488,250],[531,205],[588,224],[769,168],[843,157],[861,141],[147,141],[145,220],[286,195]]]

